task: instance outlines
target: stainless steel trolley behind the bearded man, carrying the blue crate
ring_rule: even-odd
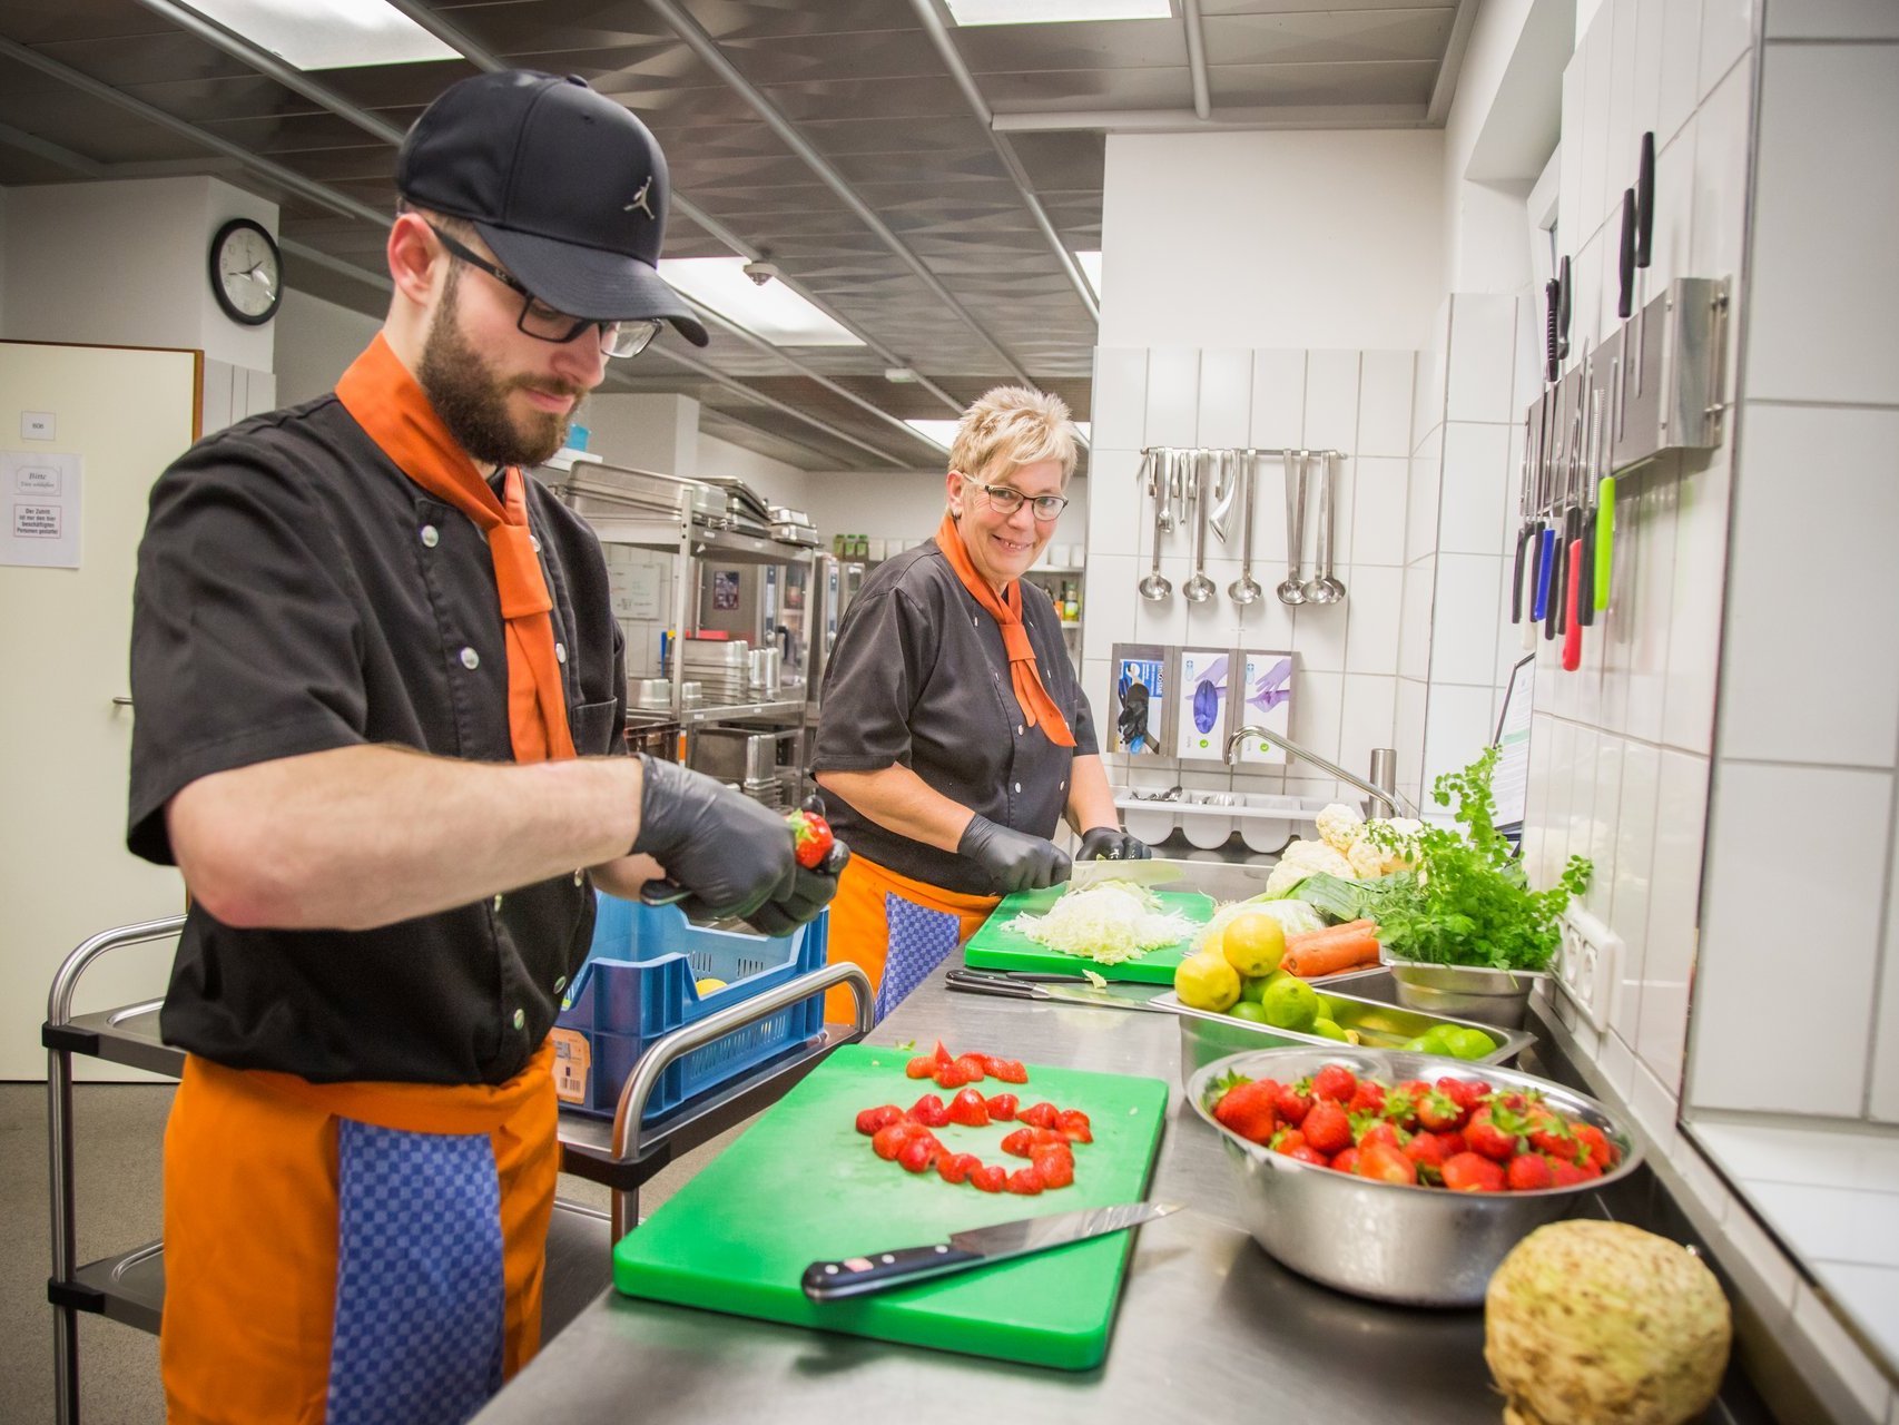
[[[53,1273],[47,1279],[46,1296],[53,1305],[53,1419],[57,1425],[74,1425],[80,1417],[78,1313],[103,1315],[156,1334],[165,1302],[163,1243],[144,1243],[120,1256],[84,1265],[74,1260],[78,1256],[78,1229],[74,1224],[72,1056],[85,1054],[167,1077],[179,1077],[184,1070],[184,1053],[171,1049],[158,1036],[158,999],[91,1015],[74,1015],[72,999],[80,977],[108,950],[173,940],[182,927],[184,916],[167,916],[101,931],[61,961],[53,975],[53,988],[47,992],[40,1041],[46,1045],[46,1121],[51,1165]],[[826,1026],[824,1034],[796,1058],[765,1064],[659,1123],[640,1125],[646,1102],[668,1064],[722,1034],[767,1018],[836,984],[849,984],[856,1001],[856,1020],[849,1030]],[[611,1125],[604,1119],[591,1121],[562,1113],[562,1172],[611,1189],[613,1235],[610,1241],[617,1243],[638,1224],[642,1184],[665,1168],[676,1153],[697,1148],[782,1096],[837,1045],[862,1039],[870,1032],[872,1009],[870,977],[853,963],[837,963],[708,1015],[697,1024],[674,1030],[655,1041],[640,1058],[638,1070],[621,1089]],[[556,1203],[556,1206],[591,1212],[566,1203]]]

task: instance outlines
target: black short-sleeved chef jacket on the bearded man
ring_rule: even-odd
[[[606,562],[534,479],[581,756],[623,750]],[[482,532],[327,395],[201,441],[152,486],[133,593],[127,846],[173,864],[165,804],[213,771],[359,743],[511,762],[507,648]],[[319,1083],[501,1083],[587,956],[581,872],[372,931],[235,929],[192,906],[167,1043]]]

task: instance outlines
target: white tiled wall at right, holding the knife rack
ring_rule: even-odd
[[[1825,1172],[1774,1184],[1709,1127],[1722,1182],[1694,1140],[1703,1115],[1753,1129],[1770,1113],[1891,1150],[1880,1125],[1899,1123],[1899,585],[1884,553],[1899,532],[1899,298],[1867,279],[1899,230],[1893,38],[1895,10],[1869,0],[1603,0],[1589,19],[1559,162],[1572,336],[1614,325],[1616,209],[1652,127],[1637,302],[1679,276],[1734,283],[1734,407],[1715,452],[1622,481],[1584,667],[1563,674],[1538,646],[1525,826],[1538,884],[1570,853],[1595,861],[1588,904],[1624,940],[1607,1032],[1559,1005],[1565,1034],[1766,1303],[1766,1330],[1827,1376],[1829,1412],[1874,1421],[1899,1412],[1863,1349],[1899,1353],[1867,1324],[1899,1311],[1899,1218],[1869,1218],[1869,1195],[1850,1195],[1865,1184]],[[1798,595],[1802,551],[1825,570],[1821,600]],[[1819,1049],[1776,1053],[1787,1043]],[[1791,1159],[1831,1161],[1812,1144]],[[1840,1324],[1855,1309],[1859,1340]]]

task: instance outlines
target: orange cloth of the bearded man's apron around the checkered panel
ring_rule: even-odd
[[[171,1425],[321,1425],[336,1311],[338,1119],[486,1132],[501,1189],[503,1378],[539,1347],[560,1170],[553,1045],[501,1085],[317,1085],[190,1056],[165,1125]]]

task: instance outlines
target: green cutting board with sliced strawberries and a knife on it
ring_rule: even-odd
[[[953,1047],[961,1053],[968,1045]],[[627,1296],[938,1351],[1062,1370],[1100,1364],[1130,1233],[847,1302],[818,1305],[799,1290],[813,1262],[921,1246],[965,1227],[1044,1212],[1132,1203],[1147,1191],[1168,1110],[1162,1079],[1031,1066],[1025,1085],[978,1085],[1010,1089],[1024,1106],[1046,1098],[1079,1108],[1092,1121],[1094,1142],[1075,1146],[1075,1182],[1018,1197],[951,1186],[934,1170],[910,1174],[870,1150],[855,1127],[858,1110],[908,1108],[934,1092],[929,1079],[904,1077],[908,1060],[900,1049],[837,1049],[613,1248],[613,1284]],[[997,1146],[1014,1127],[948,1127],[936,1136],[984,1163],[1016,1168],[1024,1163]]]

